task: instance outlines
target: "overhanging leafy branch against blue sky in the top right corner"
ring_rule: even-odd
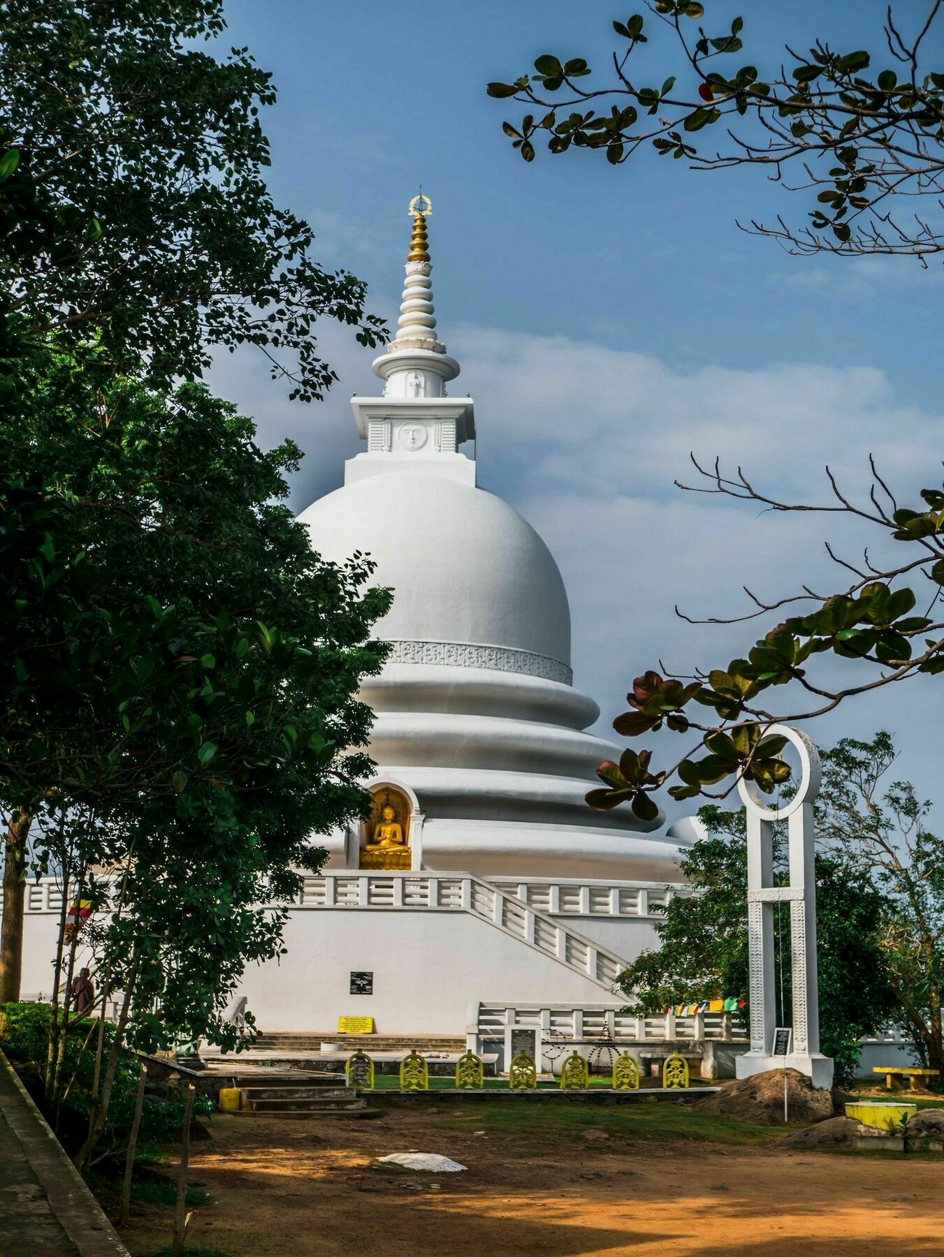
[[[640,147],[699,170],[760,166],[789,191],[807,191],[811,209],[803,226],[778,216],[773,225],[752,219],[748,230],[796,253],[925,259],[944,249],[940,222],[920,207],[896,219],[889,199],[931,201],[933,212],[941,206],[944,65],[926,64],[940,47],[941,3],[909,6],[908,31],[889,9],[884,65],[866,49],[817,40],[806,53],[787,47],[786,68],[764,72],[739,64],[742,18],[718,29],[703,24],[706,6],[695,0],[650,0],[647,14],[612,23],[618,44],[601,85],[588,82],[583,58],[546,53],[533,73],[489,83],[488,93],[541,111],[504,123],[525,161],[543,141],[552,153],[598,150],[613,166]],[[670,40],[661,69],[651,67],[660,36]]]

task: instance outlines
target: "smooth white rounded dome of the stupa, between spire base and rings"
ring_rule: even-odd
[[[397,470],[354,480],[299,518],[323,558],[341,562],[366,551],[376,562],[373,581],[393,590],[377,637],[527,651],[538,659],[523,671],[568,670],[571,615],[561,573],[530,524],[494,494]],[[542,669],[542,660],[558,669]]]

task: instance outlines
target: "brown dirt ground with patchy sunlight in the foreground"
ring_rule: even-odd
[[[778,1150],[779,1131],[749,1145],[664,1141],[628,1109],[586,1109],[566,1128],[535,1120],[534,1106],[494,1120],[483,1109],[215,1117],[212,1140],[191,1154],[191,1179],[211,1203],[195,1210],[189,1247],[229,1257],[944,1252],[940,1158],[791,1154]],[[371,1164],[410,1150],[468,1172]],[[134,1257],[167,1243],[166,1217],[138,1209],[123,1233]]]

